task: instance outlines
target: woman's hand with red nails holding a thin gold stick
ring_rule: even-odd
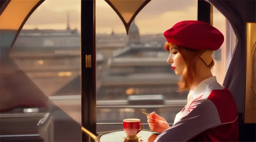
[[[148,123],[152,131],[162,133],[166,129],[170,128],[166,120],[157,115],[155,112],[151,113],[150,115],[152,117],[148,116]]]

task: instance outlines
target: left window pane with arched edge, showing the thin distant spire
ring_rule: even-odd
[[[80,7],[80,0],[43,2],[10,54],[1,51],[1,135],[81,141]]]

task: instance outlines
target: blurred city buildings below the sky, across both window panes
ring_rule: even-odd
[[[97,104],[128,105],[129,96],[134,95],[140,99],[146,95],[144,100],[157,95],[154,99],[163,101],[162,105],[169,100],[184,102],[187,94],[177,92],[179,76],[166,63],[169,53],[163,48],[165,42],[162,34],[140,35],[135,22],[128,36],[115,34],[114,30],[111,34],[97,34]],[[11,58],[49,98],[74,99],[80,95],[80,34],[69,27],[69,21],[65,30],[23,29]],[[132,109],[101,108],[97,122],[116,122],[115,115],[123,112],[132,112],[126,117],[134,117]],[[108,113],[113,118],[106,117]],[[169,117],[173,121],[175,115]],[[122,122],[123,118],[118,120]]]

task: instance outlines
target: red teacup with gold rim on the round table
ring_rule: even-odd
[[[142,125],[141,129],[139,129]],[[144,125],[140,123],[140,119],[124,119],[123,127],[126,135],[129,137],[137,136],[137,134],[143,129]]]

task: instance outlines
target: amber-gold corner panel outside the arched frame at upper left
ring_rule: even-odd
[[[2,47],[11,47],[31,14],[44,0],[7,0],[1,5],[0,33]]]

